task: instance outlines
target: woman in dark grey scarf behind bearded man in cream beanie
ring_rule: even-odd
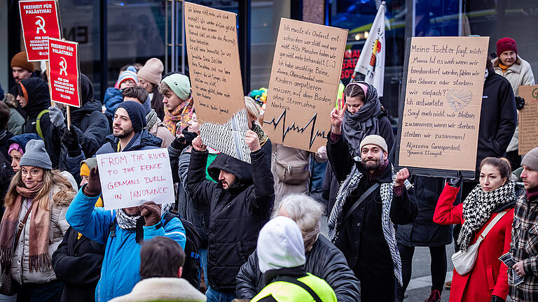
[[[394,133],[387,110],[381,105],[375,87],[366,82],[351,82],[345,87],[343,95],[345,106],[339,110],[340,115],[343,115],[341,128],[352,156],[360,156],[359,145],[365,136],[371,134],[384,138],[387,143],[387,152],[390,153],[394,144]],[[326,186],[329,191],[324,194],[329,197],[328,213],[336,202],[336,195],[340,188],[333,169],[329,162],[324,176],[326,182],[331,184]]]

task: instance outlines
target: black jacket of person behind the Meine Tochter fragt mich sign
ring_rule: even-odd
[[[490,71],[484,82],[480,111],[476,179],[480,173],[482,159],[504,156],[517,122],[516,100],[510,82],[502,75]]]

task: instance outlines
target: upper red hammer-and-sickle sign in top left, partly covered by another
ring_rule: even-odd
[[[56,1],[21,0],[19,12],[28,61],[48,60],[48,38],[62,38]]]

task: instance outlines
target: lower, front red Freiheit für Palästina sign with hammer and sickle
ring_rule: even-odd
[[[78,65],[78,43],[48,39],[50,63],[50,99],[69,106],[81,106],[81,75]]]

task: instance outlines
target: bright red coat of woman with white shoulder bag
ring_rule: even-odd
[[[438,224],[463,223],[463,203],[453,206],[457,192],[460,189],[450,187],[443,189],[434,213],[434,222]],[[480,230],[474,233],[471,243],[476,242],[478,235],[497,216],[493,213]],[[472,301],[490,302],[491,296],[499,296],[506,300],[508,295],[508,267],[499,260],[502,254],[509,252],[513,221],[511,208],[485,236],[480,247],[473,269],[466,275],[460,275],[454,270],[452,286],[450,287],[450,302]]]

